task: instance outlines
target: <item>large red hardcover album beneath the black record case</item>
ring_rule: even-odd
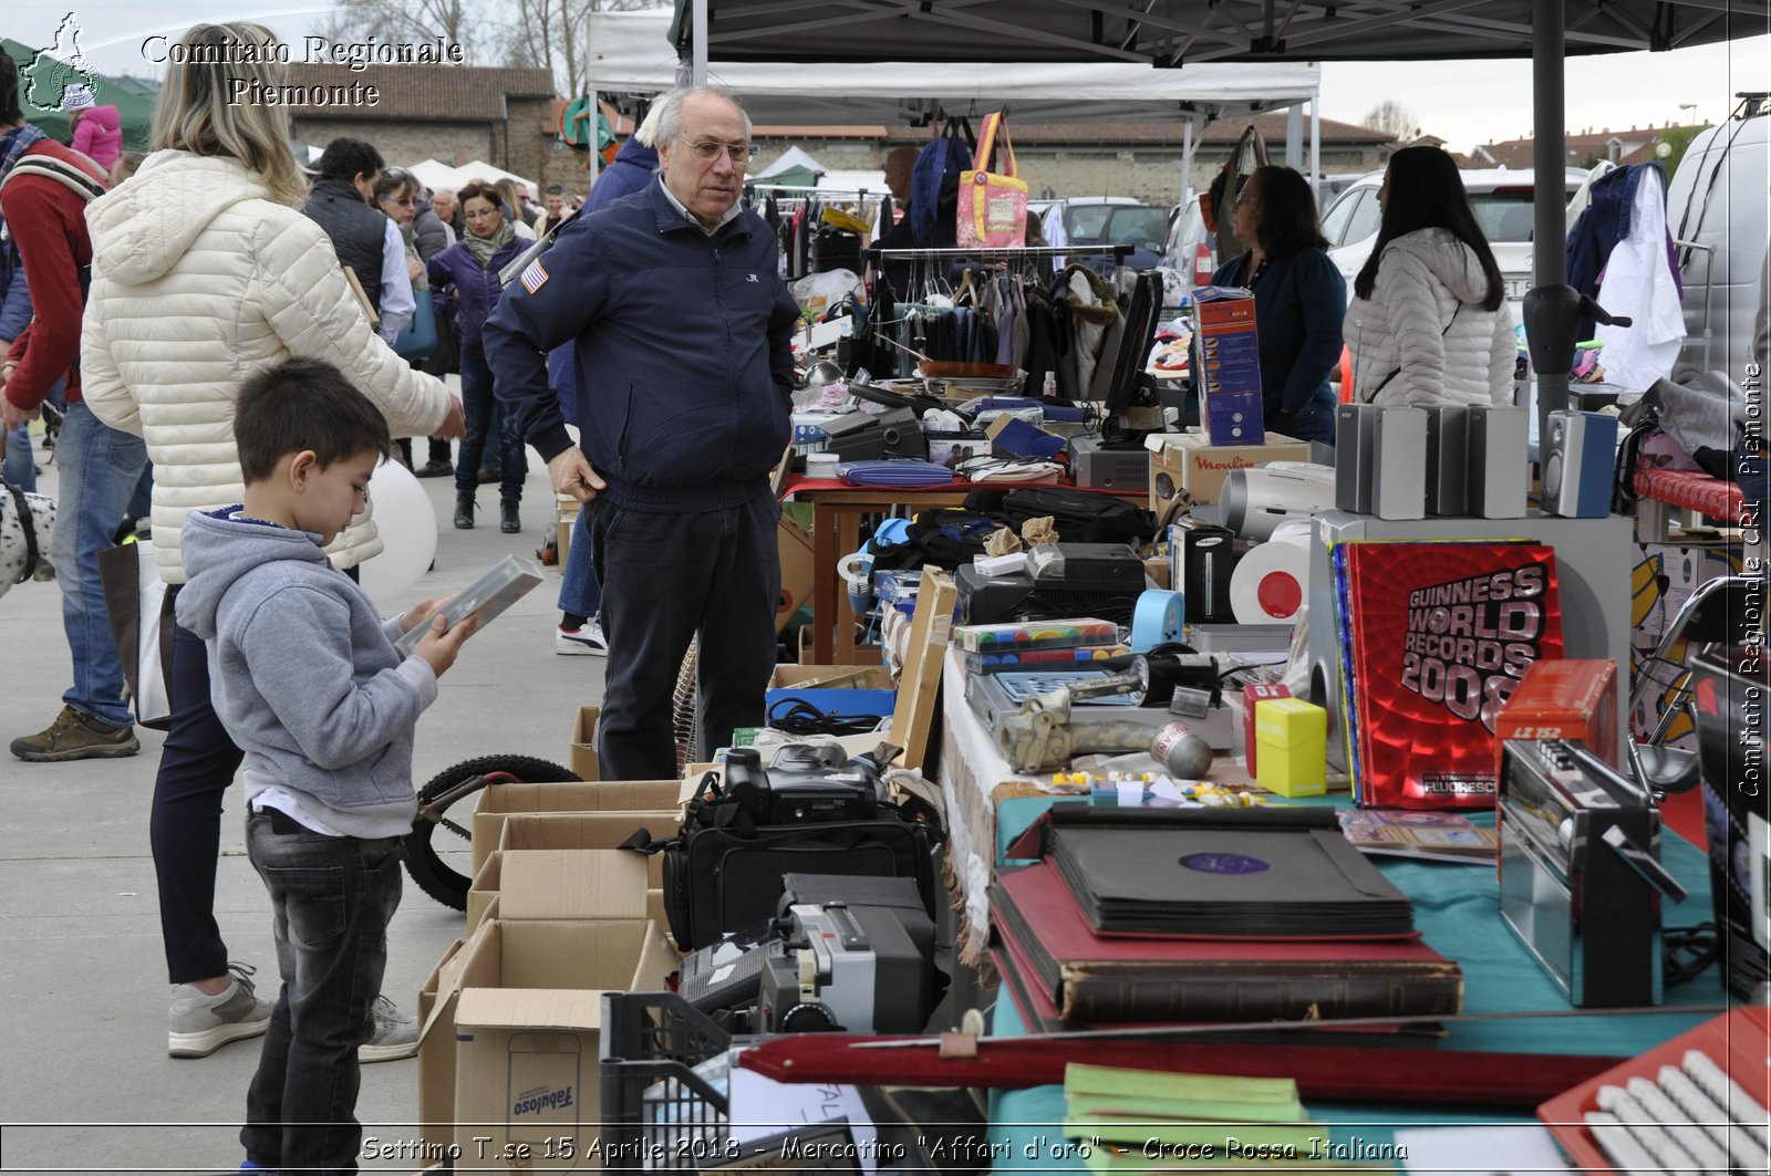
[[[992,887],[999,937],[1061,1020],[1241,1022],[1433,1017],[1463,1008],[1463,971],[1420,939],[1123,939],[1096,935],[1047,863]]]

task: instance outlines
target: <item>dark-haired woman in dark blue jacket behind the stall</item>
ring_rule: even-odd
[[[1323,251],[1309,182],[1291,168],[1256,168],[1231,205],[1231,232],[1249,251],[1211,285],[1254,290],[1266,429],[1334,445],[1328,372],[1341,361],[1346,278]]]

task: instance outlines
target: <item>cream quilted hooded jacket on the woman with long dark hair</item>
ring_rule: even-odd
[[[1512,315],[1505,303],[1482,310],[1486,292],[1475,251],[1447,228],[1420,228],[1383,246],[1371,298],[1353,298],[1342,322],[1355,398],[1512,404]]]

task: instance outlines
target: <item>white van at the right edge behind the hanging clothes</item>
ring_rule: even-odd
[[[1743,94],[1727,122],[1691,140],[1667,191],[1684,282],[1684,347],[1674,379],[1705,370],[1739,377],[1753,344],[1771,241],[1771,106]]]

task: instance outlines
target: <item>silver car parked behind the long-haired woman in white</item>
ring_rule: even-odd
[[[1580,168],[1564,172],[1564,202],[1580,190],[1585,179],[1587,174]],[[1371,246],[1378,241],[1378,223],[1383,218],[1378,207],[1378,188],[1381,186],[1383,172],[1362,175],[1323,214],[1328,260],[1346,276],[1350,298],[1353,278],[1365,266]],[[1475,223],[1495,250],[1500,276],[1507,280],[1507,298],[1516,303],[1532,289],[1534,174],[1528,168],[1463,172],[1463,188],[1470,195]],[[1512,317],[1518,321],[1518,308],[1514,308]]]

